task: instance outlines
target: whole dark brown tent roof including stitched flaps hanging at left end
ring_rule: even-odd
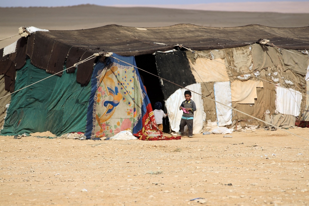
[[[28,37],[26,54],[33,65],[54,74],[63,70],[65,60],[66,67],[71,67],[79,60],[100,51],[133,56],[166,51],[177,44],[194,50],[207,50],[249,45],[259,39],[269,39],[284,49],[309,49],[309,27],[273,28],[255,24],[212,28],[177,24],[135,28],[112,24],[83,30],[33,33]],[[79,83],[88,84],[92,67],[93,61],[78,66]],[[74,72],[74,69],[70,72]]]

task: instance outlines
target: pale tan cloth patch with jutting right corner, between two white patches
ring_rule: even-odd
[[[254,104],[257,98],[256,88],[263,88],[263,82],[253,80],[231,82],[232,101],[238,104]]]

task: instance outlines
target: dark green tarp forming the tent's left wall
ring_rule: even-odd
[[[91,83],[82,87],[76,73],[63,72],[12,94],[1,135],[85,132]],[[15,91],[50,75],[28,59],[17,71]]]

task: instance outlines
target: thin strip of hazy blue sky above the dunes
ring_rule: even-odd
[[[102,6],[115,5],[115,4],[132,4],[132,5],[145,5],[145,4],[199,4],[199,3],[215,3],[215,2],[270,2],[276,0],[195,0],[194,2],[188,0],[0,0],[0,7],[11,6],[73,6],[78,4],[97,4]],[[277,0],[280,1],[280,0]],[[308,1],[308,0],[290,0],[290,1]]]

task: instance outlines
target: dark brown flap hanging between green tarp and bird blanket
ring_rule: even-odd
[[[87,51],[83,55],[82,60],[90,57],[92,54],[93,54],[93,52]],[[90,59],[87,62],[84,62],[84,63],[78,65],[76,80],[82,86],[87,86],[88,83],[90,82],[94,62],[95,62],[95,58]]]

